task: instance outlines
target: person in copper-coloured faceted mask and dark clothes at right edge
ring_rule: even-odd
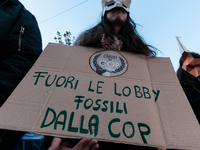
[[[183,52],[179,60],[177,77],[200,123],[200,55]]]

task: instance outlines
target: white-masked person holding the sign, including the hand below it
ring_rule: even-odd
[[[105,50],[128,51],[145,56],[156,56],[156,48],[147,45],[136,30],[136,24],[130,18],[131,0],[102,0],[103,15],[101,22],[83,32],[74,45],[103,48]],[[157,148],[97,142],[83,138],[79,142],[73,139],[54,138],[49,150],[96,150],[134,149],[149,150]]]

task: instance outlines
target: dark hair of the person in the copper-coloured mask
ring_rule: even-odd
[[[189,52],[194,58],[200,58],[198,53]],[[193,88],[195,88],[198,92],[200,92],[200,83],[197,81],[197,78],[194,78],[191,74],[187,71],[182,69],[183,60],[182,57],[179,60],[179,68],[176,72],[179,81],[181,82],[188,82]]]

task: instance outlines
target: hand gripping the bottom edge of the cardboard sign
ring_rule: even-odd
[[[73,148],[67,147],[67,139],[54,138],[48,150],[97,150],[99,144],[97,140],[83,138]]]

